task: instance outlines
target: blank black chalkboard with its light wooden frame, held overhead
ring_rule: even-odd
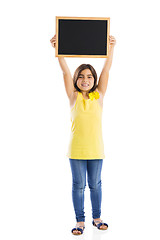
[[[110,18],[57,17],[56,57],[108,57]]]

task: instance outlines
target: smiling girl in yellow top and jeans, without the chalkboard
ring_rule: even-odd
[[[56,35],[50,42],[55,48]],[[109,36],[109,57],[105,60],[98,84],[96,71],[90,64],[81,64],[72,78],[64,57],[58,57],[71,107],[72,126],[67,156],[72,172],[72,200],[77,220],[76,227],[71,231],[74,235],[82,234],[85,228],[86,173],[92,203],[92,224],[100,230],[108,228],[100,218],[101,170],[105,158],[101,121],[115,44],[115,38]]]

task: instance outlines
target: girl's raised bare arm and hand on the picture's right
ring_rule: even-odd
[[[106,59],[104,63],[104,67],[100,74],[98,87],[97,87],[98,91],[100,91],[103,96],[105,95],[107,85],[108,85],[109,70],[112,65],[113,50],[114,50],[115,44],[116,44],[116,39],[113,36],[109,36],[109,57]]]

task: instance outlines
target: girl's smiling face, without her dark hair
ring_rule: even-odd
[[[77,87],[84,92],[88,92],[94,86],[94,77],[90,69],[84,69],[77,79]]]

